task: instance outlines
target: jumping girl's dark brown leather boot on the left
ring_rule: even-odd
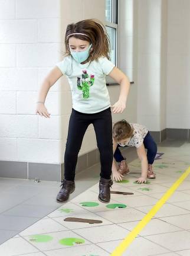
[[[65,203],[68,200],[69,195],[75,190],[74,181],[63,180],[61,185],[62,188],[57,195],[57,203]]]

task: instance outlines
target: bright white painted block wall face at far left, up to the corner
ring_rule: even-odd
[[[0,160],[60,162],[60,83],[51,119],[35,115],[42,78],[60,56],[58,0],[0,1]]]

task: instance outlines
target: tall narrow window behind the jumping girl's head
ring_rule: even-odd
[[[110,38],[110,58],[117,66],[117,9],[118,0],[106,0],[106,30]]]

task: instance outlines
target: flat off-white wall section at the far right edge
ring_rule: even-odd
[[[167,127],[190,128],[190,1],[168,0]]]

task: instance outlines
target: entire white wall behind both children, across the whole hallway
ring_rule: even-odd
[[[188,0],[120,0],[119,68],[131,86],[127,119],[150,130],[190,126]],[[0,1],[0,160],[63,162],[71,92],[63,77],[51,88],[51,119],[35,115],[35,101],[47,72],[63,59],[68,23],[97,18],[102,0]],[[168,39],[167,39],[168,34]],[[167,90],[166,90],[167,84]],[[108,88],[111,103],[119,86]],[[90,126],[80,155],[96,148]]]

